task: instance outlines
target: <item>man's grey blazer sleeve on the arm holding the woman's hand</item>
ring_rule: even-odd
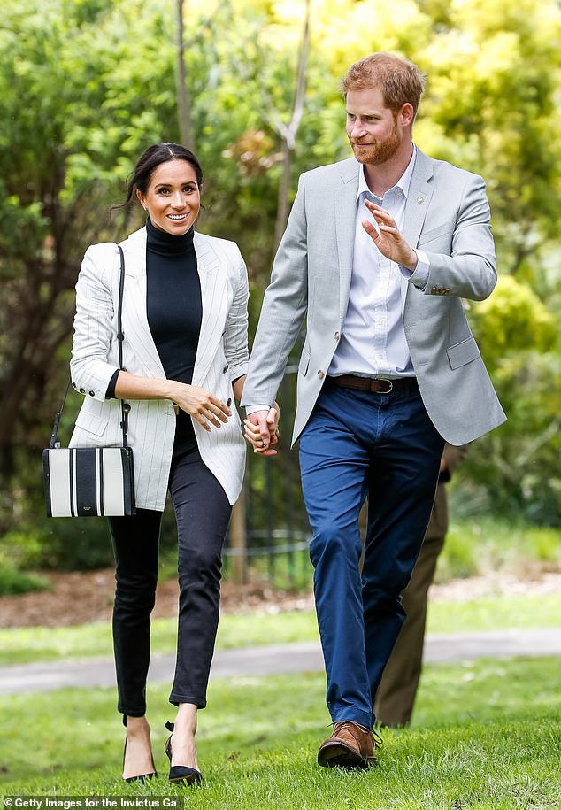
[[[272,405],[308,305],[305,174],[288,217],[265,291],[242,405]]]

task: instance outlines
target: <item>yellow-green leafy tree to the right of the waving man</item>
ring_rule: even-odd
[[[494,509],[558,522],[561,12],[552,0],[424,5],[438,30],[418,51],[429,76],[419,143],[488,181],[499,271],[469,314],[509,420],[463,474]]]

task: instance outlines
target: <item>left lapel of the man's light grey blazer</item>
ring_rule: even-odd
[[[358,164],[354,159],[342,163],[342,185],[336,186],[335,233],[339,258],[339,320],[343,322],[349,303],[350,276],[357,221]]]

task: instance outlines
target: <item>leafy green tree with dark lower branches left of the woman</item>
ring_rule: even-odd
[[[173,50],[161,47],[163,22],[154,9],[134,2],[4,4],[4,528],[38,505],[37,451],[49,436],[54,404],[64,390],[72,290],[81,256],[89,243],[118,235],[107,210],[120,193],[131,159],[164,132],[167,137],[176,133],[165,126],[175,96]],[[30,492],[35,494],[31,504]]]

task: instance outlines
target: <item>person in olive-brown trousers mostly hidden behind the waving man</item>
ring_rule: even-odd
[[[444,446],[433,511],[411,580],[402,594],[407,616],[384,668],[374,700],[374,714],[382,727],[396,729],[411,721],[423,661],[428,589],[433,582],[436,563],[448,531],[446,483],[464,458],[465,451],[465,447]]]

